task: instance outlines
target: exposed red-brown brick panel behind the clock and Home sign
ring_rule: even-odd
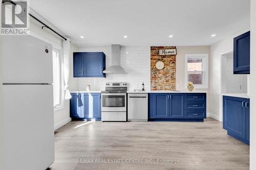
[[[159,55],[160,49],[176,48],[176,46],[151,46],[151,90],[176,89],[176,55]],[[156,62],[162,61],[164,68],[158,70]]]

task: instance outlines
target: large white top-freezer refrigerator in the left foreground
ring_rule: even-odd
[[[47,169],[54,161],[52,45],[1,36],[1,56],[1,169]]]

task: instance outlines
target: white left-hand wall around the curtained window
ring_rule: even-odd
[[[52,33],[48,29],[41,29],[41,25],[38,24],[37,21],[34,19],[30,20],[30,33],[31,35],[45,40],[53,45],[56,48],[62,48],[62,38],[57,36],[56,34]],[[70,90],[77,90],[78,89],[78,81],[73,78],[73,52],[78,51],[78,47],[71,43],[70,47],[70,79],[69,79],[69,86]],[[62,63],[63,64],[63,63]],[[64,91],[63,91],[64,93]],[[64,99],[64,96],[62,96]],[[54,111],[54,130],[60,128],[61,126],[70,122],[70,108],[69,108],[69,100],[64,100],[63,108],[57,111]]]

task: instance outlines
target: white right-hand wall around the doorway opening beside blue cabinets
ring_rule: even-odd
[[[210,45],[210,60],[209,60],[209,111],[210,116],[222,121],[222,96],[221,96],[221,55],[233,51],[233,38],[249,31],[249,29],[241,30],[234,33],[219,42]]]

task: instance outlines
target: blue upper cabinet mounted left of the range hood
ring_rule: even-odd
[[[74,78],[103,77],[105,74],[105,54],[103,52],[73,53]]]

